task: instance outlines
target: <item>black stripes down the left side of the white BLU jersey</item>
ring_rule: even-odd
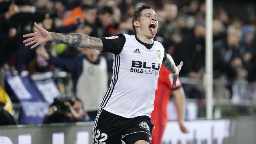
[[[103,98],[103,100],[102,100],[102,102],[101,102],[101,104],[100,104],[100,106],[101,106],[102,108],[104,108],[103,105],[106,104],[106,100],[111,96],[111,94],[112,94],[112,92],[113,92],[113,90],[114,90],[114,87],[115,87],[115,83],[116,83],[116,81],[117,81],[117,78],[116,78],[116,76],[117,76],[117,70],[119,71],[119,66],[120,66],[120,60],[118,60],[118,56],[119,56],[119,54],[118,54],[118,55],[115,55],[114,78],[112,79],[113,85],[108,89],[108,91],[106,92],[106,94],[105,94],[105,96],[104,96],[104,98]],[[120,56],[119,56],[119,59],[120,59]],[[110,91],[111,91],[111,94],[110,94]],[[107,100],[107,101],[108,101],[108,100]]]

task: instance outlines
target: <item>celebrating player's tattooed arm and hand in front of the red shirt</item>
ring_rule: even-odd
[[[176,67],[173,58],[167,54],[166,60],[163,62],[163,65],[170,71],[173,73],[173,86],[176,86],[176,81],[178,79],[179,76],[179,72],[181,71],[181,67],[183,65],[183,61],[180,62],[180,64]]]

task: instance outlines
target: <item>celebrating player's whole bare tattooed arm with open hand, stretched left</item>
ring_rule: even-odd
[[[24,38],[31,37],[23,41],[23,43],[26,43],[25,46],[34,44],[33,46],[31,46],[31,49],[47,41],[52,41],[75,47],[86,47],[103,51],[103,44],[100,38],[90,37],[79,33],[61,34],[48,32],[44,28],[37,25],[36,22],[34,23],[34,25],[38,29],[37,32],[23,35]]]

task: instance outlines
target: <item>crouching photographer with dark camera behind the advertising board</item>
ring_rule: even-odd
[[[43,123],[88,121],[85,114],[86,111],[83,109],[80,99],[56,98],[50,106]]]

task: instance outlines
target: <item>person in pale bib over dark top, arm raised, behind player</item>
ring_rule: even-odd
[[[81,54],[73,59],[53,57],[44,47],[37,48],[37,54],[49,64],[64,68],[72,74],[76,96],[85,104],[85,110],[92,120],[96,119],[100,102],[107,91],[107,62],[100,51],[79,48]]]

